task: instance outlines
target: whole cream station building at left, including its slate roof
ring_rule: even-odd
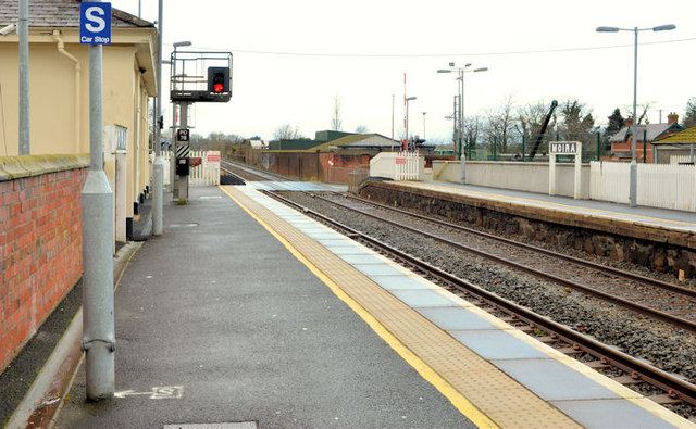
[[[79,43],[79,5],[77,0],[30,2],[32,155],[89,152],[89,47]],[[17,18],[18,2],[0,0],[0,28]],[[116,241],[126,240],[150,182],[148,103],[157,91],[157,46],[152,23],[112,8],[112,41],[103,47],[103,153],[120,216]],[[0,136],[8,156],[18,154],[18,36],[0,35]]]

